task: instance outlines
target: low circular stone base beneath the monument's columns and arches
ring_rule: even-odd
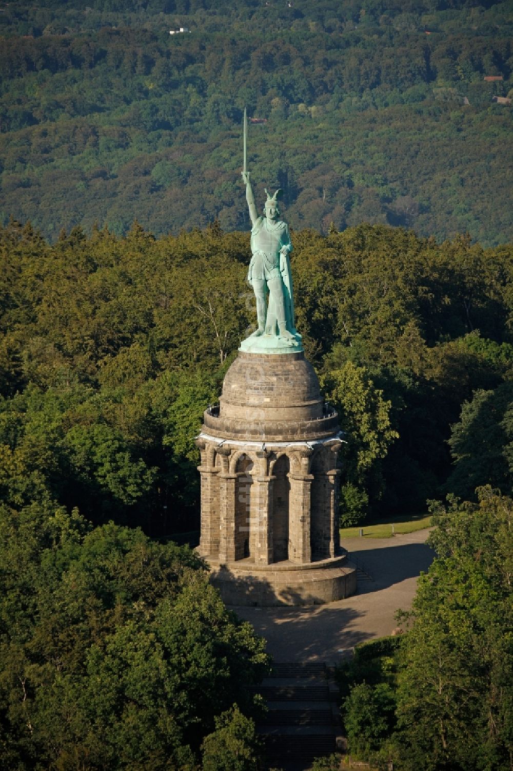
[[[211,583],[229,605],[321,605],[357,591],[357,574],[345,556],[308,564],[290,561],[256,567],[250,559],[220,564],[205,557]]]

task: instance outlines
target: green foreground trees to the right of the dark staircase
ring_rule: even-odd
[[[509,771],[513,500],[488,486],[433,513],[437,558],[399,614],[409,631],[340,668],[349,749],[382,771]]]

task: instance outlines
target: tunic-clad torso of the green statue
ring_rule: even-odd
[[[266,217],[258,217],[251,231],[250,268],[248,281],[270,281],[280,278],[280,249],[284,246],[292,250],[289,228],[286,222],[271,224]]]

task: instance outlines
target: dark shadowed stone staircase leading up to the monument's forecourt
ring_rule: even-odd
[[[268,768],[303,771],[337,749],[337,686],[324,664],[276,663],[258,692],[268,712],[258,726]]]

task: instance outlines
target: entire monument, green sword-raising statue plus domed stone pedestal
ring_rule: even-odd
[[[315,604],[356,591],[339,554],[337,490],[342,443],[295,328],[287,224],[280,190],[258,215],[246,170],[257,329],[240,343],[219,406],[206,409],[199,553],[230,604]]]

